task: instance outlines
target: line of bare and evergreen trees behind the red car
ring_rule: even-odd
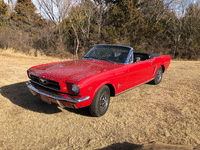
[[[200,5],[189,0],[0,0],[0,48],[80,58],[94,44],[200,57]],[[44,17],[45,16],[45,17]],[[37,55],[37,53],[36,53]]]

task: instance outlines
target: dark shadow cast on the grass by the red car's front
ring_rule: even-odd
[[[62,111],[57,104],[49,105],[43,102],[39,96],[33,96],[27,88],[26,82],[3,86],[0,88],[0,93],[5,98],[9,99],[13,104],[31,111],[45,114],[54,114]],[[65,108],[65,110],[80,115],[90,116],[87,108]]]

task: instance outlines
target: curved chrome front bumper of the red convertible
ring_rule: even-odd
[[[84,97],[84,98],[81,98],[81,99],[67,99],[67,98],[64,98],[62,96],[58,96],[58,95],[53,95],[52,93],[49,93],[49,92],[43,92],[43,91],[40,91],[38,89],[36,89],[30,81],[26,82],[26,85],[27,87],[29,88],[30,91],[33,91],[33,92],[36,92],[36,93],[39,93],[41,95],[45,95],[47,97],[51,97],[53,99],[56,99],[56,100],[62,100],[62,101],[68,101],[68,102],[73,102],[73,103],[79,103],[79,102],[83,102],[83,101],[86,101],[88,99],[90,99],[90,96],[87,96],[87,97]],[[32,92],[31,92],[32,93]]]

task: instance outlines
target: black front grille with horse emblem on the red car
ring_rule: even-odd
[[[37,83],[39,85],[42,85],[42,86],[50,88],[50,89],[60,91],[60,84],[58,82],[47,80],[47,79],[42,79],[42,78],[39,78],[34,75],[30,75],[30,77],[34,83]]]

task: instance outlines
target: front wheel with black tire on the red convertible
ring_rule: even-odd
[[[108,110],[110,103],[110,89],[108,86],[102,86],[96,93],[92,104],[89,107],[89,111],[92,116],[103,116]]]

